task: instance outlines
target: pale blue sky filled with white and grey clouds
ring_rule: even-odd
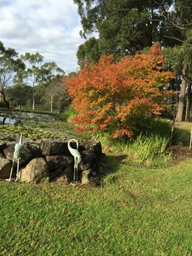
[[[17,53],[39,52],[66,73],[75,71],[83,43],[73,0],[0,0],[0,41]]]

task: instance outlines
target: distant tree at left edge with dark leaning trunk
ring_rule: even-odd
[[[0,102],[3,100],[9,108],[9,103],[5,97],[5,90],[12,85],[16,73],[25,68],[22,60],[17,58],[17,53],[14,49],[5,49],[0,41]]]

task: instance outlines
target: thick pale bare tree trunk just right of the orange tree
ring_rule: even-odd
[[[176,116],[176,121],[182,122],[183,121],[183,110],[184,110],[184,100],[185,100],[185,91],[186,91],[186,81],[184,80],[183,76],[186,73],[186,65],[183,66],[182,69],[182,80],[181,80],[181,91],[180,91],[180,97],[179,97],[179,105],[178,105],[178,111]]]

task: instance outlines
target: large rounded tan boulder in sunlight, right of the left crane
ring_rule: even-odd
[[[34,158],[20,170],[18,179],[27,183],[43,183],[49,181],[49,168],[43,158]]]

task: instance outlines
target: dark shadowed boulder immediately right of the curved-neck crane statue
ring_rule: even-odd
[[[81,162],[79,163],[80,170],[94,169],[97,165],[98,157],[91,151],[81,151]]]

